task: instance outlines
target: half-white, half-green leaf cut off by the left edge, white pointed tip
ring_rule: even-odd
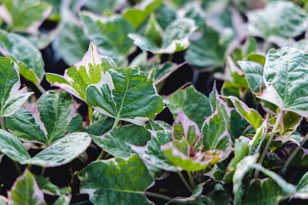
[[[9,58],[0,57],[0,116],[10,116],[20,108],[33,92],[21,90],[21,81],[18,74],[19,68]]]

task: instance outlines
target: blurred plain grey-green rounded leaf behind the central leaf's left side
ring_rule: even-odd
[[[81,26],[64,24],[54,41],[54,47],[68,65],[78,62],[87,52],[89,40]]]

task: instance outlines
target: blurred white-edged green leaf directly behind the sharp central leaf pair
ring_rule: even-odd
[[[118,65],[126,65],[126,57],[133,46],[127,37],[133,32],[131,24],[118,15],[102,18],[90,12],[81,12],[85,33],[98,47],[100,53],[111,57]]]

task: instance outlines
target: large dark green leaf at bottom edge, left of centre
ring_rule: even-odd
[[[92,162],[78,177],[81,193],[94,204],[152,204],[144,192],[154,178],[137,155]]]

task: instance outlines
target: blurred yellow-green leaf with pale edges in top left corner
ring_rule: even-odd
[[[4,19],[14,32],[20,31],[37,34],[38,27],[41,26],[52,10],[49,4],[40,0],[16,0],[13,2],[10,0],[2,0],[2,3],[8,11],[7,15],[9,15]],[[4,13],[4,15],[6,14]]]

